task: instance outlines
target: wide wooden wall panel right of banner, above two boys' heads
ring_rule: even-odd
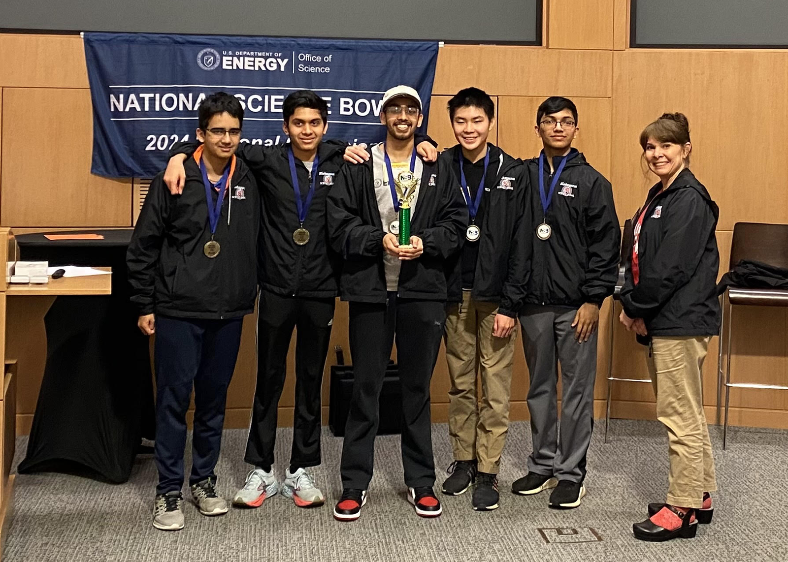
[[[490,95],[609,98],[612,51],[447,45],[438,51],[433,94],[475,86]]]

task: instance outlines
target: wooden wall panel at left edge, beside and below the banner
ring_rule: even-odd
[[[131,180],[90,173],[89,91],[9,87],[2,91],[0,223],[131,226]]]

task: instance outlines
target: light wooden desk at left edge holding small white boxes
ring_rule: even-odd
[[[19,249],[13,232],[9,228],[0,228],[0,264],[4,267],[7,263],[16,261]],[[111,271],[110,268],[97,268]],[[2,548],[6,543],[8,527],[13,517],[13,481],[14,475],[10,474],[11,462],[16,442],[16,374],[17,358],[8,357],[6,353],[6,338],[11,335],[6,328],[13,326],[13,335],[29,338],[31,335],[24,329],[31,319],[24,318],[24,306],[28,299],[35,301],[48,301],[40,303],[39,310],[49,308],[54,298],[60,295],[89,295],[110,294],[112,275],[87,275],[84,277],[61,277],[50,279],[45,285],[12,285],[6,283],[6,278],[0,278],[0,356],[4,359],[2,373],[2,396],[0,396],[0,557]],[[24,298],[24,299],[22,299]],[[10,301],[9,301],[10,299]],[[20,302],[21,300],[21,302]],[[9,309],[9,304],[13,306]],[[30,301],[32,302],[32,301]],[[7,313],[8,312],[8,313]],[[23,317],[17,317],[23,316]],[[43,324],[43,316],[38,320]]]

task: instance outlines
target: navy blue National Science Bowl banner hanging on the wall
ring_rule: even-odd
[[[226,91],[243,104],[241,142],[287,142],[282,102],[310,89],[329,102],[326,138],[385,139],[383,92],[414,87],[426,131],[437,42],[85,33],[93,100],[91,172],[155,176],[174,142],[195,139],[197,106]]]

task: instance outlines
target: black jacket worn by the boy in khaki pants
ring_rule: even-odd
[[[485,177],[485,191],[481,195],[477,216],[481,218],[481,236],[472,295],[478,301],[499,303],[498,312],[516,318],[526,298],[526,284],[530,272],[531,224],[528,197],[528,174],[522,161],[515,160],[497,146],[488,144],[490,161]],[[459,145],[440,154],[447,167],[455,174],[455,162],[462,147]],[[459,184],[459,179],[455,177]],[[478,186],[477,186],[478,187]],[[473,196],[476,195],[471,190]],[[455,267],[449,276],[448,301],[463,300],[462,261],[453,260]]]

